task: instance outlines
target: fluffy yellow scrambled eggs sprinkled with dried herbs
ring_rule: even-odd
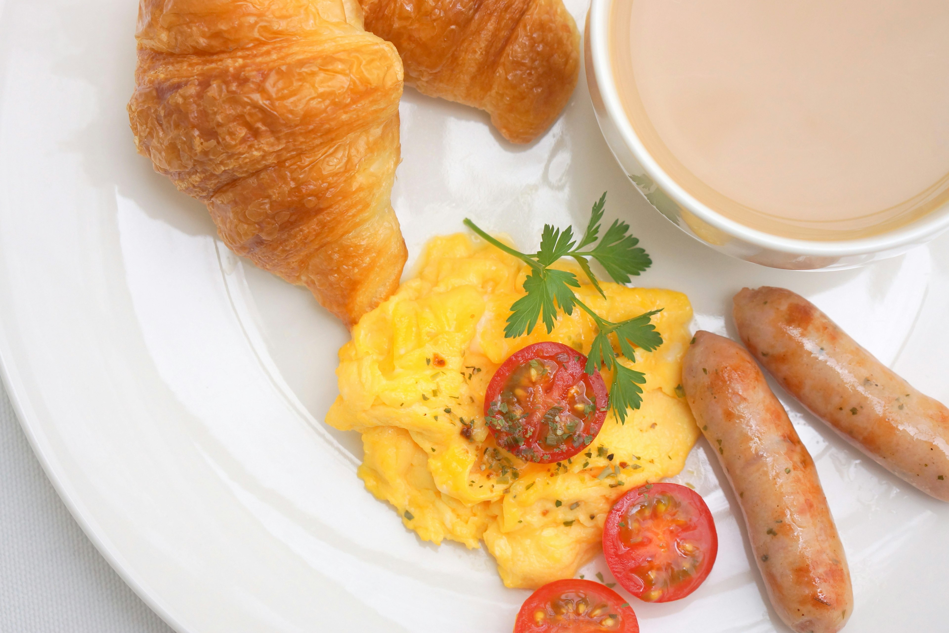
[[[437,544],[448,538],[477,548],[483,540],[504,584],[526,588],[572,577],[600,550],[616,499],[679,473],[698,438],[679,386],[691,338],[688,298],[604,283],[605,298],[586,284],[576,294],[609,321],[662,308],[653,317],[661,346],[640,350],[636,363],[621,359],[645,374],[642,406],[624,424],[611,412],[586,451],[563,462],[529,463],[497,448],[484,423],[484,394],[498,365],[540,341],[586,354],[596,335],[575,308],[550,333],[538,324],[529,335],[504,338],[529,271],[464,234],[433,239],[419,275],[353,328],[336,370],[340,396],[326,415],[331,426],[363,435],[359,476],[406,527]],[[604,380],[608,386],[611,377]]]

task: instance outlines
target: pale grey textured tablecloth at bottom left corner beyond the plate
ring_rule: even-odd
[[[0,632],[172,633],[65,509],[29,448],[2,384]]]

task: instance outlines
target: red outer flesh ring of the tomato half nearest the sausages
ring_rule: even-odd
[[[603,553],[606,559],[606,565],[616,577],[617,582],[623,586],[626,591],[637,598],[642,598],[644,586],[632,574],[628,573],[630,561],[625,560],[628,556],[627,548],[623,545],[620,538],[620,521],[630,506],[639,503],[644,494],[668,493],[679,499],[681,503],[693,508],[698,514],[698,534],[700,536],[701,549],[704,553],[701,568],[687,583],[665,591],[661,598],[652,601],[657,603],[667,603],[674,600],[685,598],[693,591],[698,589],[708,577],[712,568],[715,566],[716,556],[718,554],[718,533],[715,528],[715,520],[712,518],[712,512],[705,505],[705,500],[701,495],[686,486],[679,486],[674,483],[646,484],[635,488],[628,493],[623,494],[613,508],[606,514],[606,520],[603,528]]]

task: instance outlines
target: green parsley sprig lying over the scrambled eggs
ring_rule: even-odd
[[[598,332],[587,355],[586,373],[592,374],[594,369],[602,367],[613,371],[610,406],[616,412],[616,417],[625,423],[626,410],[640,408],[640,385],[646,382],[646,379],[642,372],[619,363],[609,337],[614,335],[623,356],[635,363],[635,346],[644,351],[653,351],[662,344],[661,334],[650,323],[652,317],[661,312],[661,309],[645,312],[620,323],[606,321],[586,306],[573,291],[580,288],[580,281],[575,274],[567,270],[549,268],[563,257],[572,257],[593,287],[605,297],[600,282],[593,270],[590,270],[589,258],[599,262],[606,274],[618,284],[629,283],[631,276],[639,275],[652,265],[646,251],[637,246],[640,240],[629,233],[629,225],[625,222],[613,220],[603,237],[600,237],[605,203],[606,194],[600,196],[593,205],[590,221],[579,242],[574,239],[573,227],[561,231],[547,224],[541,234],[540,250],[534,253],[516,251],[502,244],[468,218],[465,218],[465,226],[488,243],[530,266],[530,274],[524,280],[524,290],[527,294],[515,301],[511,307],[511,315],[508,316],[507,326],[504,328],[506,338],[530,334],[538,320],[544,322],[548,333],[553,331],[558,308],[571,315],[574,307],[580,307],[593,319]]]

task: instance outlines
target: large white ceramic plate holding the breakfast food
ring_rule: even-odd
[[[585,0],[570,0],[578,22]],[[356,477],[354,434],[322,419],[346,331],[306,290],[234,257],[203,206],[136,155],[125,102],[133,0],[0,0],[0,356],[47,474],[84,530],[178,631],[507,631],[527,591],[482,550],[435,548]],[[529,147],[486,117],[406,90],[393,203],[414,257],[482,227],[536,245],[545,222],[608,213],[687,292],[696,326],[742,286],[795,289],[926,393],[949,400],[949,236],[862,270],[728,259],[647,206],[600,136],[581,78]],[[784,398],[814,456],[853,572],[847,630],[932,631],[944,610],[949,506],[868,463]],[[735,500],[703,441],[680,475],[716,516],[715,570],[690,598],[633,601],[645,633],[784,631]],[[714,461],[714,460],[713,460]],[[602,561],[587,576],[604,569]]]

